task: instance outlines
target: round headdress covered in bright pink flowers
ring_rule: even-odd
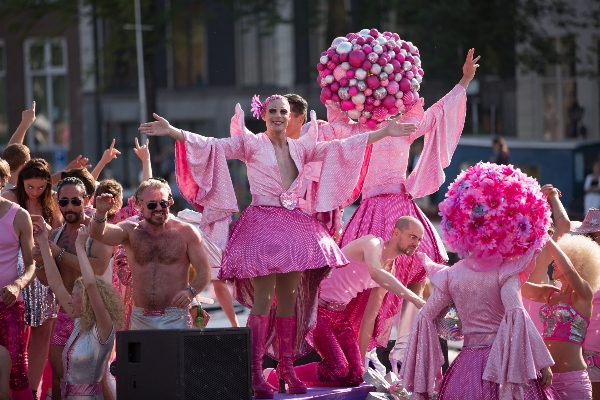
[[[550,206],[538,182],[512,165],[463,171],[439,205],[442,237],[461,257],[520,257],[548,240]]]

